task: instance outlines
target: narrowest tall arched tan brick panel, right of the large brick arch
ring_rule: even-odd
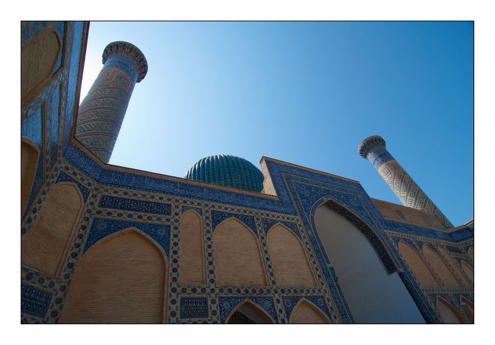
[[[193,210],[181,216],[179,282],[181,285],[205,284],[204,237],[201,218]]]

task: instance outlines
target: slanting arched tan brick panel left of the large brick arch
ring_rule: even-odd
[[[58,276],[82,207],[82,197],[73,184],[57,184],[22,238],[21,262],[51,277]]]

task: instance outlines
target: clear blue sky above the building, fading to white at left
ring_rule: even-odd
[[[107,43],[148,60],[110,164],[183,177],[267,156],[400,204],[359,143],[387,148],[454,226],[473,218],[471,22],[91,22],[81,100]]]

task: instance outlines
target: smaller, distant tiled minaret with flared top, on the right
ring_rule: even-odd
[[[435,215],[446,229],[453,228],[447,217],[392,157],[385,148],[385,140],[380,135],[364,139],[359,144],[357,152],[373,164],[373,167],[396,193],[402,205],[418,210],[425,209],[428,213]]]

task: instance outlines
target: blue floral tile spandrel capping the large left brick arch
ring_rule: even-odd
[[[102,238],[130,227],[135,227],[154,239],[163,248],[167,254],[167,258],[169,257],[170,225],[106,218],[93,219],[83,254]]]

